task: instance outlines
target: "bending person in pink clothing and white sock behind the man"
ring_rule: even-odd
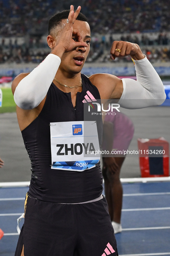
[[[109,152],[114,151],[114,156],[103,156],[102,174],[114,233],[122,231],[121,209],[123,188],[120,181],[120,170],[125,160],[123,150],[128,149],[133,134],[133,123],[125,114],[118,112],[116,115],[106,115],[103,126],[102,149],[106,149]],[[118,154],[116,155],[116,153]]]

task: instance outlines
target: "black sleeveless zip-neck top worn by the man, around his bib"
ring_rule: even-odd
[[[77,92],[76,108],[71,93],[51,84],[39,116],[22,131],[22,137],[31,160],[31,181],[28,195],[42,201],[80,203],[102,194],[100,163],[82,172],[51,169],[50,122],[83,121],[82,102],[87,91],[100,99],[98,89],[81,74],[82,92]],[[100,122],[99,126],[102,124]]]

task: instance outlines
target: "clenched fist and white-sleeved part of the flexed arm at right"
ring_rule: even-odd
[[[116,57],[130,55],[135,64],[137,81],[128,78],[122,79],[123,93],[119,100],[122,107],[143,108],[160,105],[164,102],[166,94],[163,83],[137,44],[114,41],[110,53],[113,60]]]

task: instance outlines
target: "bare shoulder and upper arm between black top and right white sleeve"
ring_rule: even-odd
[[[91,75],[89,80],[98,88],[101,99],[120,99],[123,92],[120,78],[103,73]]]

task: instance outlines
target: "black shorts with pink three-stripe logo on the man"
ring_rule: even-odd
[[[106,199],[83,204],[44,202],[28,196],[15,256],[116,256]]]

